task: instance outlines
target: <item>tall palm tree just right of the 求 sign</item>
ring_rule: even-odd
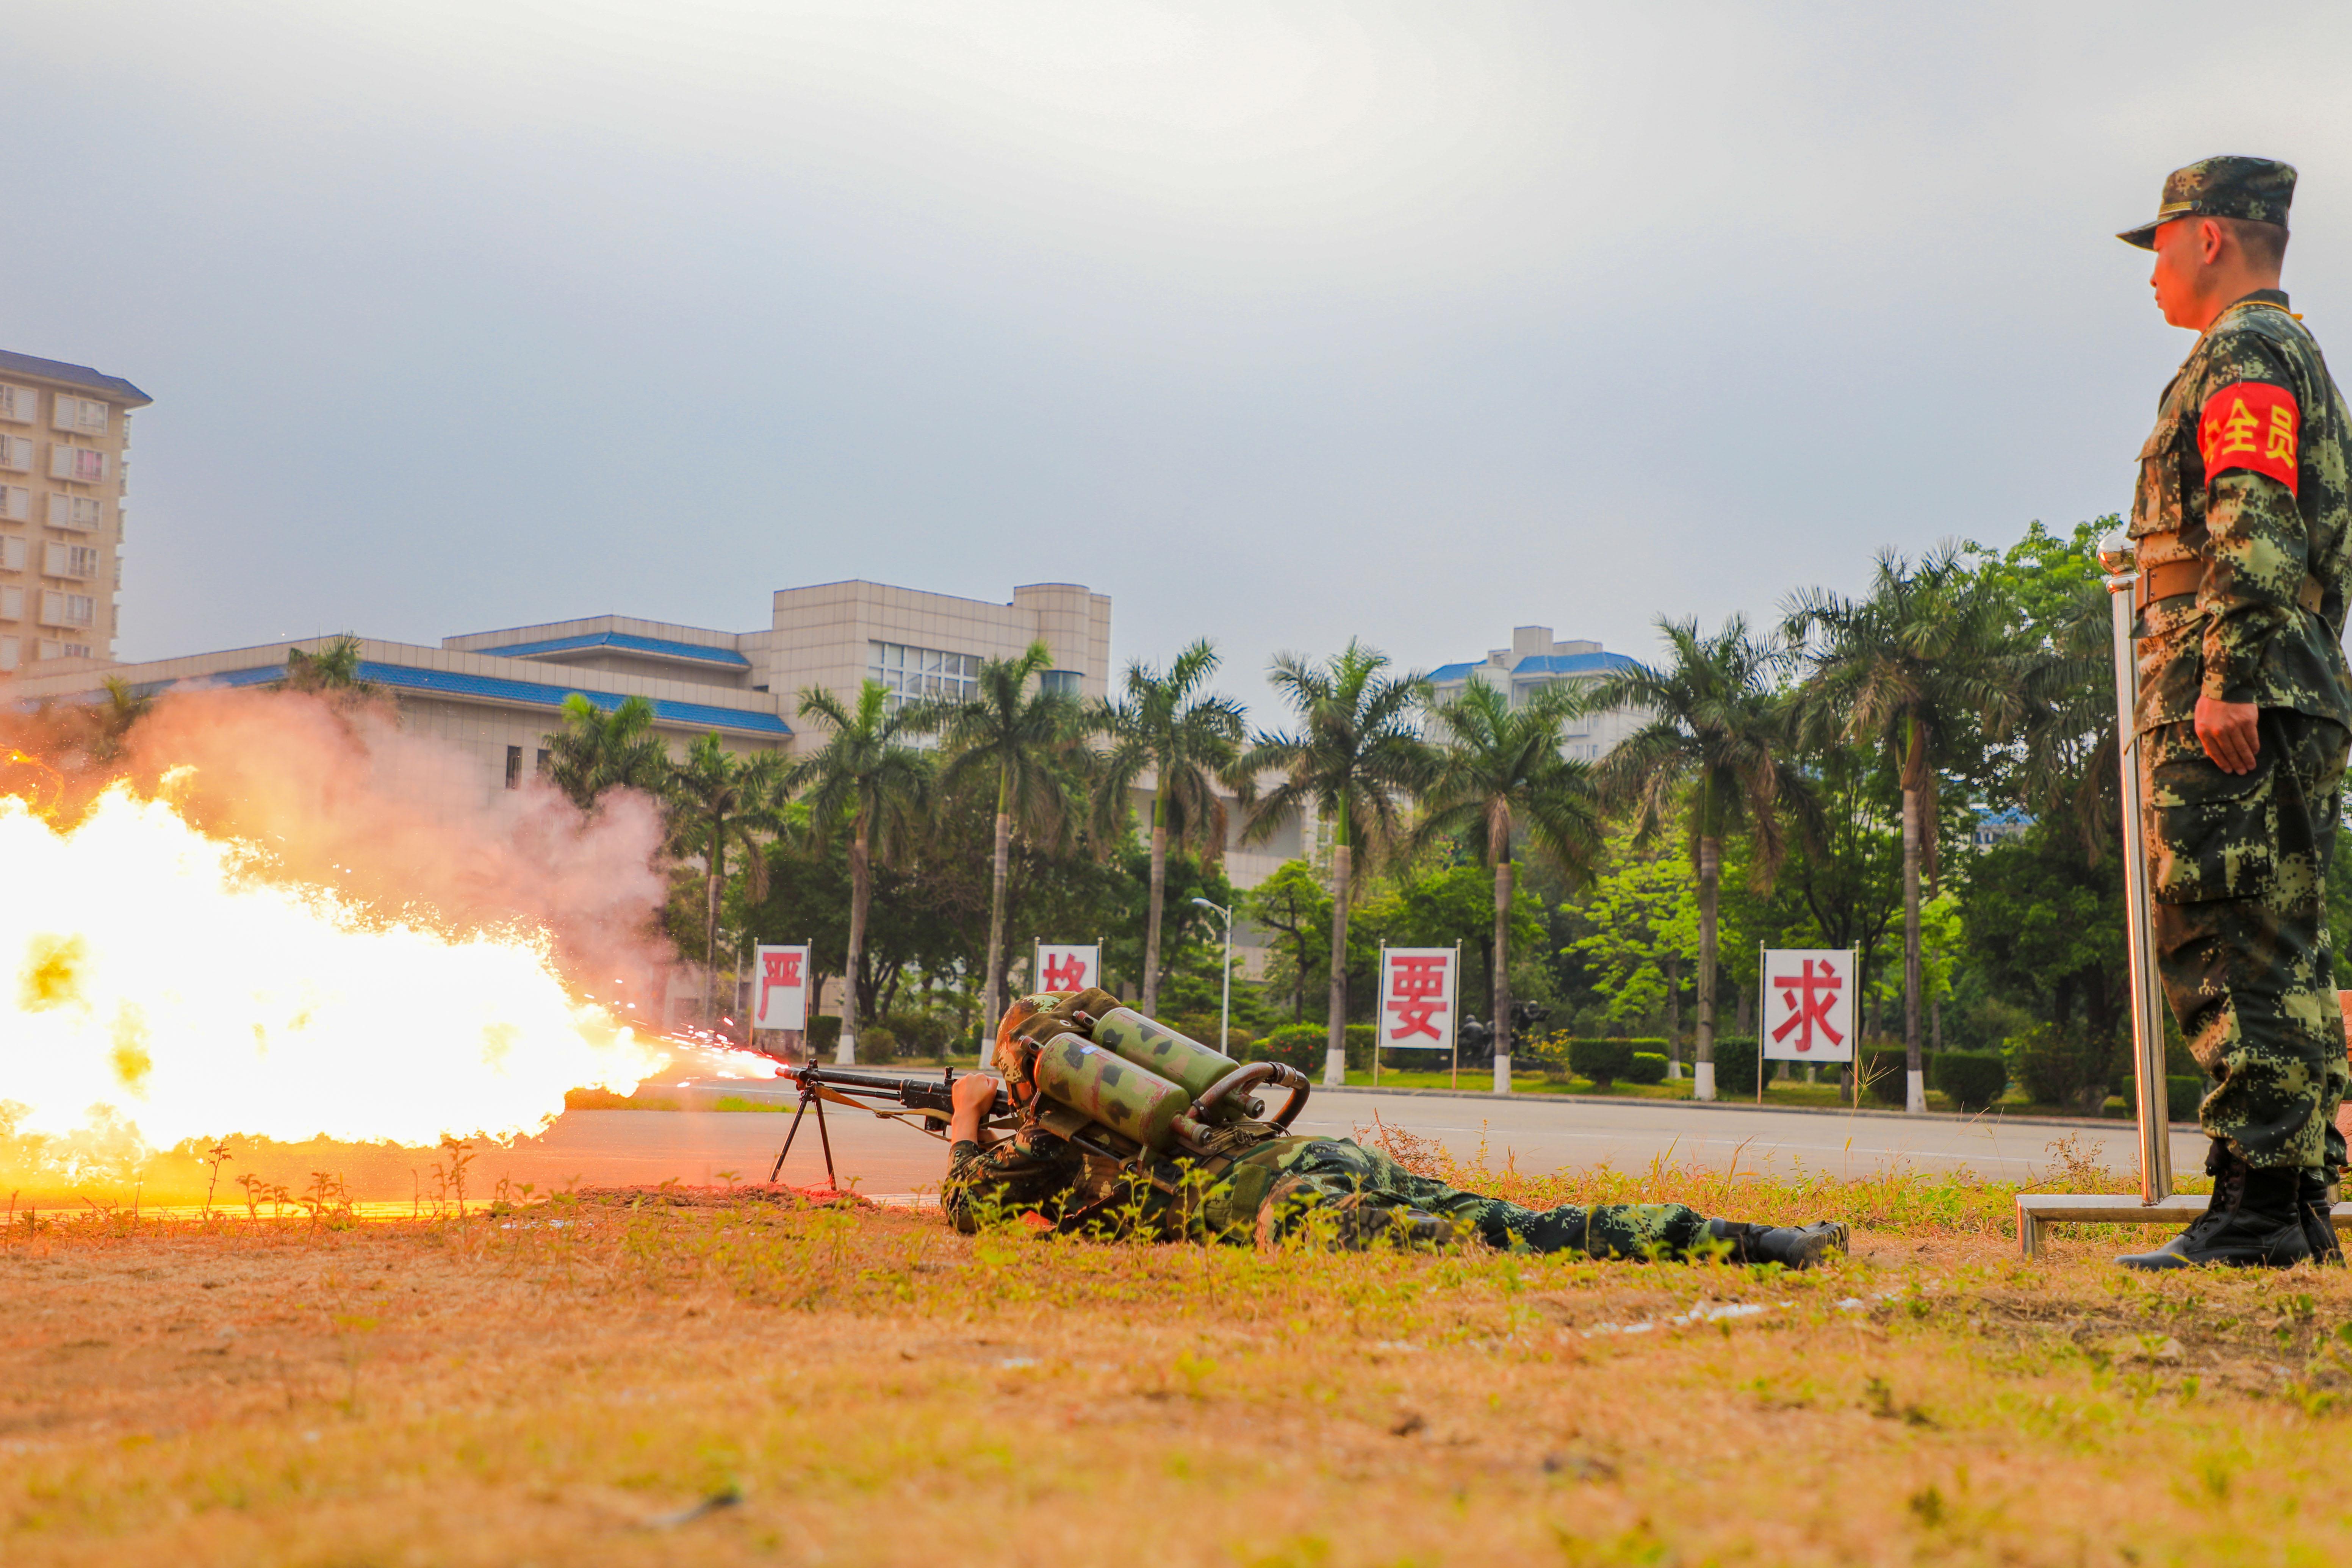
[[[2023,710],[2025,661],[2006,611],[1952,545],[1917,567],[1882,550],[1870,595],[1806,590],[1788,635],[1804,646],[1806,729],[1886,750],[1903,783],[1903,1060],[1907,1110],[1926,1110],[1919,1056],[1919,875],[1936,879],[1936,776],[1971,726],[2002,733]]]

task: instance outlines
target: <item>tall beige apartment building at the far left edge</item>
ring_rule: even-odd
[[[120,376],[0,350],[0,670],[113,658],[122,588]]]

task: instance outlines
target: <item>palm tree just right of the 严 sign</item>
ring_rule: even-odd
[[[858,1060],[858,964],[866,959],[866,910],[873,905],[873,858],[889,858],[922,820],[931,797],[931,764],[906,743],[917,733],[917,710],[891,708],[882,682],[858,686],[851,712],[830,691],[807,686],[800,717],[823,719],[826,745],[793,764],[786,785],[807,790],[809,837],[826,837],[849,820],[849,954],[842,961],[842,1041],[835,1060]]]

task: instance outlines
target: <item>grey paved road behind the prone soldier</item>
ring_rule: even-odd
[[[790,1086],[760,1091],[727,1084],[731,1095],[790,1098]],[[2077,1135],[2082,1145],[2114,1171],[2138,1164],[2131,1124],[2004,1124],[1997,1119],[1912,1119],[1900,1114],[1806,1114],[1748,1110],[1733,1105],[1691,1105],[1672,1100],[1566,1100],[1557,1095],[1399,1095],[1367,1091],[1317,1091],[1298,1131],[1352,1135],[1374,1114],[1385,1124],[1437,1138],[1456,1154],[1477,1154],[1486,1145],[1494,1164],[1515,1159],[1522,1171],[1590,1166],[1609,1161],[1618,1168],[1646,1166],[1663,1157],[1677,1164],[1722,1168],[1733,1159],[1743,1168],[1764,1164],[1806,1166],[1839,1175],[1870,1175],[1889,1166],[1947,1171],[1969,1166],[2002,1180],[2032,1180],[2053,1161],[2049,1145]],[[532,1182],[541,1192],[567,1182],[583,1185],[659,1185],[680,1180],[715,1185],[731,1171],[741,1180],[764,1180],[790,1117],[753,1112],[569,1112],[541,1138],[527,1138],[510,1150],[485,1150],[470,1171],[468,1190],[487,1194],[499,1178]],[[835,1107],[826,1117],[833,1159],[844,1182],[868,1194],[908,1194],[936,1190],[946,1147],[906,1126],[877,1121]],[[339,1150],[339,1173],[353,1197],[407,1201],[423,1187],[430,1192],[435,1150]],[[2204,1159],[2204,1140],[2194,1128],[2173,1128],[2173,1168],[2194,1171]],[[301,1187],[306,1171],[275,1173]],[[786,1166],[786,1180],[809,1185],[823,1178],[823,1154],[814,1119],[802,1126]],[[266,1173],[270,1175],[270,1173]]]

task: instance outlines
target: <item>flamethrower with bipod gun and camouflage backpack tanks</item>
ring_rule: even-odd
[[[1134,1164],[1148,1154],[1214,1152],[1216,1128],[1265,1117],[1258,1088],[1287,1088],[1289,1100],[1272,1114],[1272,1126],[1289,1124],[1305,1110],[1310,1084],[1284,1063],[1237,1063],[1197,1039],[1145,1018],[1134,1009],[1110,1009],[1101,1018],[1077,1013],[1070,1023],[1051,1020],[1037,1046],[1037,1093],[1016,1107],[1004,1088],[988,1112],[985,1126],[1011,1131],[1042,1126],[1089,1154]],[[826,1100],[910,1121],[934,1138],[948,1135],[955,1114],[955,1070],[934,1079],[898,1079],[840,1067],[783,1067],[781,1077],[800,1086],[800,1107],[783,1135],[783,1150],[769,1171],[783,1175],[783,1157],[793,1152],[800,1119],[816,1110],[816,1138],[826,1150],[826,1180],[833,1178],[833,1140],[826,1135]]]

